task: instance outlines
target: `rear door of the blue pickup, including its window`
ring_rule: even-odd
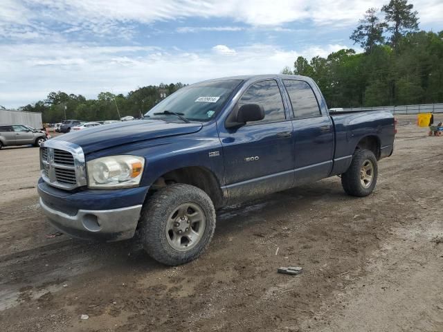
[[[334,157],[334,127],[322,113],[311,86],[302,80],[283,80],[293,111],[295,185],[329,176]]]

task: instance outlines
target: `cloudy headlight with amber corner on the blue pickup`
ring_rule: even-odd
[[[109,156],[87,162],[88,187],[136,187],[141,180],[145,158]]]

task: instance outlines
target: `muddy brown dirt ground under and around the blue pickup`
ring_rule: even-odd
[[[1,331],[443,331],[443,137],[414,121],[372,195],[334,177],[225,209],[176,268],[135,241],[47,239],[38,149],[2,149]]]

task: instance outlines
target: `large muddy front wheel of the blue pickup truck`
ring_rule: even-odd
[[[165,265],[185,264],[208,247],[215,230],[215,208],[208,194],[176,184],[153,194],[140,219],[143,248]]]

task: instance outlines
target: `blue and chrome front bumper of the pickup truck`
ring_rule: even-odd
[[[119,241],[134,237],[149,187],[69,192],[40,178],[44,214],[55,228],[80,239]]]

